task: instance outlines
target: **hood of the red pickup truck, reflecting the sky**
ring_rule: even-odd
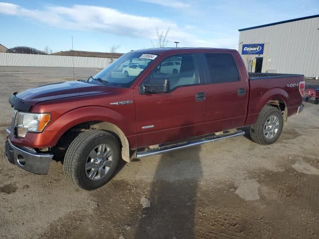
[[[112,89],[114,88],[82,81],[67,81],[31,88],[18,94],[13,93],[9,98],[9,103],[15,110],[29,111],[32,106],[43,101],[101,94]]]

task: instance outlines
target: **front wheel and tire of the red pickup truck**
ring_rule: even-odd
[[[99,157],[100,152],[105,156]],[[97,189],[111,179],[120,155],[120,144],[112,134],[102,130],[85,131],[72,141],[66,151],[65,177],[81,189]]]

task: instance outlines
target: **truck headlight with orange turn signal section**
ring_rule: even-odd
[[[51,115],[18,112],[15,117],[16,135],[24,137],[27,132],[42,132],[50,122]]]

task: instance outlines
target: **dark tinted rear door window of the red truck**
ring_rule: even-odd
[[[209,76],[207,83],[225,83],[239,81],[239,74],[231,54],[205,54]]]

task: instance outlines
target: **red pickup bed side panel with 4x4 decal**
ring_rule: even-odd
[[[256,122],[260,111],[270,100],[282,100],[287,107],[288,117],[296,114],[303,102],[299,92],[299,83],[302,81],[303,75],[251,79],[246,125]],[[295,83],[298,83],[298,86],[289,87]]]

